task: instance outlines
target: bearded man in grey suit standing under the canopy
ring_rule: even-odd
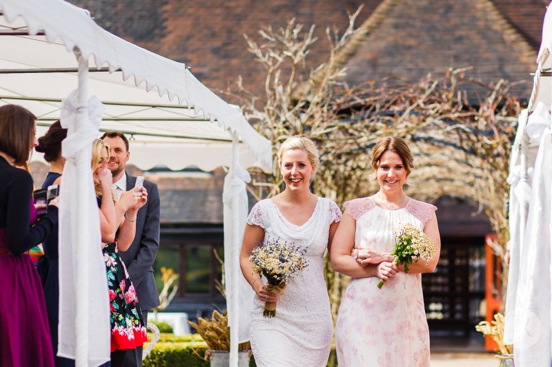
[[[113,176],[113,188],[117,192],[118,200],[123,191],[132,189],[136,183],[136,177],[125,172],[126,162],[130,158],[128,139],[122,132],[106,132],[101,136],[101,140],[108,143],[110,147],[108,168]],[[119,255],[135,286],[144,324],[147,324],[148,311],[150,308],[159,306],[159,295],[152,268],[159,249],[159,190],[155,183],[147,180],[144,180],[144,187],[148,190],[148,202],[138,211],[134,241],[127,251],[121,251]],[[124,364],[121,366],[141,366],[141,347],[122,352],[115,356],[117,361],[124,359]]]

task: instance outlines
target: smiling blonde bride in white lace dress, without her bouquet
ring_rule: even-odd
[[[240,262],[257,297],[251,311],[250,342],[259,367],[321,367],[330,354],[333,321],[324,280],[324,253],[331,245],[341,211],[335,202],[309,190],[318,152],[307,138],[288,138],[278,162],[286,189],[257,202],[247,220]],[[308,267],[287,284],[284,295],[266,291],[266,279],[253,274],[249,254],[261,242],[279,239],[306,251]],[[265,302],[276,316],[263,316]]]

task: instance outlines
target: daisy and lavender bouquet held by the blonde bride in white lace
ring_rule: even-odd
[[[273,295],[283,295],[286,282],[307,267],[304,251],[299,251],[286,242],[279,240],[266,242],[255,247],[249,255],[253,271],[264,275],[268,280],[266,291]],[[265,302],[263,316],[275,317],[276,302]]]

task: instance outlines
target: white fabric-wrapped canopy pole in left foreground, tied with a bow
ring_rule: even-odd
[[[76,366],[99,366],[110,360],[109,298],[101,252],[98,205],[92,180],[92,141],[99,135],[103,105],[87,101],[88,60],[79,60],[79,89],[63,100],[61,125],[66,158],[61,176],[59,211],[58,355]]]

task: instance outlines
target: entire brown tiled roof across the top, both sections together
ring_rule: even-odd
[[[347,12],[364,4],[357,25],[371,23],[366,41],[348,67],[347,81],[384,76],[411,80],[446,67],[473,66],[487,81],[530,81],[544,19],[544,0],[72,0],[97,22],[148,50],[186,62],[208,87],[226,89],[241,75],[263,96],[264,70],[247,51],[243,34],[279,28],[295,17],[316,24],[318,37],[308,60],[328,55],[326,27],[344,30]],[[380,6],[380,17],[371,17]],[[382,11],[384,10],[384,11]],[[381,17],[381,14],[384,17]],[[376,17],[377,18],[377,17]],[[367,21],[368,19],[368,21]],[[368,23],[366,23],[366,21]],[[471,74],[470,74],[471,75]],[[529,95],[531,83],[517,89]]]

